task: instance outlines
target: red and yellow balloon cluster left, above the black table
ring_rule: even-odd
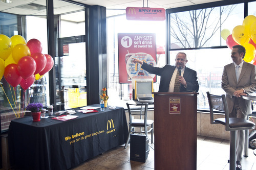
[[[0,80],[5,80],[13,87],[18,84],[27,90],[53,67],[53,58],[42,54],[42,44],[37,39],[28,42],[20,36],[11,38],[0,34]]]

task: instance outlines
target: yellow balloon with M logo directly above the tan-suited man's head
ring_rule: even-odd
[[[244,26],[237,26],[233,28],[232,37],[240,45],[244,45],[249,42],[250,37],[248,31]]]

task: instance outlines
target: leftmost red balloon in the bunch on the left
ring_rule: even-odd
[[[17,67],[18,67],[17,64],[9,64],[5,67],[5,73],[4,73],[5,80],[12,87],[16,87],[20,83],[20,81],[22,81],[22,77],[19,76]]]

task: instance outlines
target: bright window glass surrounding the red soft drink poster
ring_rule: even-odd
[[[107,10],[108,12],[109,10]],[[132,99],[132,84],[119,84],[118,79],[118,33],[156,33],[158,48],[163,53],[157,54],[157,65],[165,65],[165,21],[133,21],[126,20],[125,15],[107,18],[107,50],[108,50],[108,94],[109,104],[116,105],[120,100]],[[158,91],[160,78],[154,83],[154,91]]]

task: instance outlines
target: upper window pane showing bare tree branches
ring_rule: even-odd
[[[226,45],[221,30],[243,22],[243,4],[169,14],[170,49]]]

